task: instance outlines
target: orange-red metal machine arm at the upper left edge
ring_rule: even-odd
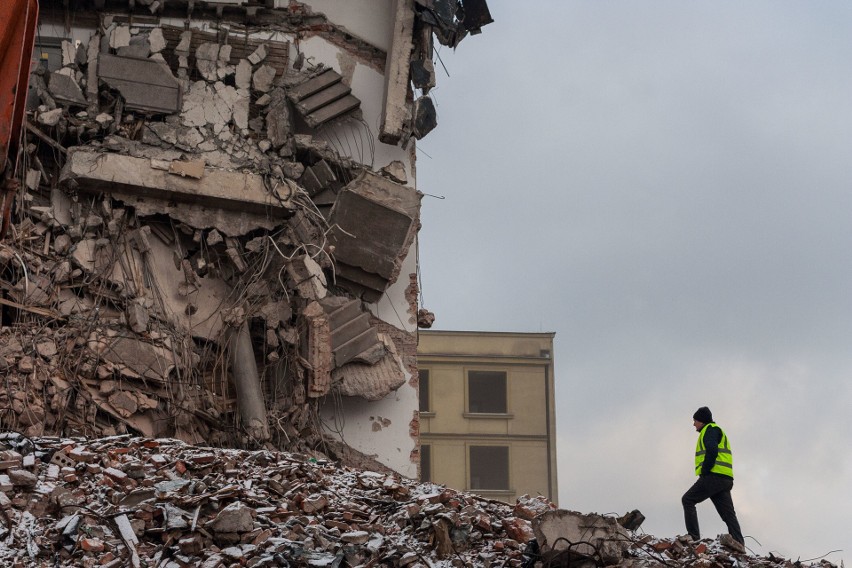
[[[18,141],[24,122],[38,23],[38,0],[0,0],[0,239],[6,234],[14,199]]]

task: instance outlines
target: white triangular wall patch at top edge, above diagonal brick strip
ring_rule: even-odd
[[[288,0],[276,0],[276,7],[286,7]],[[315,13],[325,14],[336,26],[352,35],[388,51],[393,33],[392,0],[303,0]]]

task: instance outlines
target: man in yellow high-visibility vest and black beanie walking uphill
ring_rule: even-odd
[[[713,414],[706,406],[695,411],[693,426],[698,432],[698,444],[695,446],[695,475],[698,481],[683,494],[683,516],[686,520],[686,532],[693,540],[701,538],[698,530],[698,513],[695,505],[708,497],[716,507],[716,512],[728,525],[728,533],[742,545],[745,545],[740,523],[734,511],[731,488],[734,486],[734,460],[728,437],[713,422]]]

